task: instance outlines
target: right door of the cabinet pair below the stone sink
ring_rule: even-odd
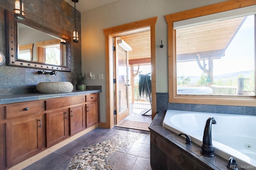
[[[84,105],[70,107],[70,135],[86,128]]]

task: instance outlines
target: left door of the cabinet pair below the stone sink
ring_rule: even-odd
[[[66,139],[69,135],[68,109],[46,113],[47,147]]]

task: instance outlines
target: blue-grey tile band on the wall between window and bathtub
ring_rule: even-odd
[[[168,103],[168,93],[157,93],[156,110],[166,111],[167,109],[256,116],[256,107]]]

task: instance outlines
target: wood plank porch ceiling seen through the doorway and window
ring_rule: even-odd
[[[219,59],[225,55],[226,48],[236,35],[244,18],[234,18],[188,28],[180,28],[176,31],[178,62],[194,61],[196,55],[202,57],[214,57]],[[150,64],[150,31],[124,35],[120,37],[130,47],[129,64]]]

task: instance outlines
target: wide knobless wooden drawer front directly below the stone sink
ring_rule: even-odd
[[[46,100],[46,110],[56,109],[65,106],[72,106],[74,104],[84,103],[84,96],[74,96],[66,98],[56,98]]]

